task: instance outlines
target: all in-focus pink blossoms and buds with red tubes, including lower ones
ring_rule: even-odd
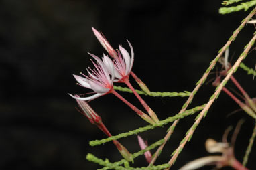
[[[106,54],[103,54],[102,58],[99,58],[98,56],[95,56],[94,54],[90,54],[94,60],[92,61],[92,64],[94,68],[87,68],[87,75],[82,74],[82,76],[74,75],[74,78],[78,82],[78,85],[89,88],[94,91],[94,94],[91,96],[81,96],[78,94],[72,95],[72,98],[75,98],[78,102],[78,105],[80,106],[81,110],[80,112],[84,114],[90,120],[92,124],[97,125],[101,131],[103,131],[107,136],[111,137],[111,133],[109,133],[108,129],[103,124],[101,117],[94,112],[94,110],[90,107],[88,102],[90,100],[94,100],[95,98],[98,98],[99,96],[103,96],[105,94],[114,94],[125,102],[133,111],[136,112],[137,115],[139,115],[143,120],[146,122],[149,122],[149,124],[156,124],[159,120],[153,112],[151,108],[146,104],[146,102],[137,94],[131,83],[129,82],[129,75],[131,74],[133,78],[135,78],[136,82],[139,83],[139,86],[141,86],[142,89],[145,89],[145,92],[150,93],[147,86],[143,84],[143,82],[137,78],[137,76],[131,72],[131,69],[133,67],[134,62],[134,52],[133,52],[133,46],[131,46],[131,43],[127,40],[131,54],[125,50],[121,45],[119,45],[119,50],[114,50],[112,46],[109,44],[107,39],[99,33],[96,29],[92,27],[92,31],[94,32],[94,35],[97,37],[97,39],[100,41],[101,45],[105,50],[107,50],[109,56],[111,56],[113,59],[109,58]],[[119,93],[117,93],[114,88],[113,84],[114,82],[121,82],[125,83],[135,94],[135,96],[138,98],[139,102],[141,102],[141,105],[145,108],[145,110],[148,112],[149,115],[145,114],[139,108],[125,100]],[[139,139],[140,145],[143,144],[142,139]],[[132,161],[131,155],[121,143],[119,143],[116,140],[113,140],[113,143],[117,146],[117,149],[127,159],[127,161]],[[145,144],[142,145],[142,147],[145,147]],[[147,152],[147,161],[150,162],[151,155]]]

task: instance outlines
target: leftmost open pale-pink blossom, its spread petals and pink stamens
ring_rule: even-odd
[[[115,77],[114,74],[114,69],[113,69],[113,64],[109,63],[108,68],[112,68],[109,71],[111,71],[111,77],[109,75],[109,71],[107,66],[101,61],[100,58],[95,56],[94,54],[90,54],[97,62],[92,62],[94,64],[94,69],[87,69],[88,76],[82,77],[82,76],[77,76],[74,75],[74,78],[76,78],[76,81],[80,86],[83,86],[85,88],[90,88],[92,89],[96,94],[81,98],[79,96],[73,96],[70,94],[75,99],[78,100],[93,100],[94,98],[97,98],[99,96],[103,96],[105,94],[108,94],[113,90],[113,80]]]

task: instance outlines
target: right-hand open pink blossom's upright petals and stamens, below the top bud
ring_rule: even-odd
[[[129,78],[131,68],[133,67],[133,62],[134,62],[133,46],[131,46],[131,43],[128,40],[127,42],[131,48],[131,56],[127,52],[127,50],[125,50],[125,48],[119,45],[120,52],[118,52],[117,57],[115,57],[113,61],[114,68],[115,68],[114,70],[115,78],[117,78],[116,80],[114,80],[115,82],[124,82],[125,80],[127,80]],[[107,66],[109,73],[111,73],[112,66],[109,64],[110,62],[109,60],[111,59],[108,58],[107,56],[103,57],[103,62]]]

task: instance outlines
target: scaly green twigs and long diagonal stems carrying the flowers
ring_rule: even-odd
[[[242,1],[242,0],[227,0],[227,1],[223,1],[222,4],[223,5],[231,5],[231,4],[237,3],[239,1]],[[231,13],[231,12],[235,12],[235,11],[241,11],[242,9],[244,9],[244,11],[247,11],[247,9],[249,9],[249,7],[253,7],[255,5],[256,5],[256,0],[247,1],[245,3],[241,3],[237,6],[221,7],[219,9],[219,12],[221,14],[226,14],[226,13]],[[174,162],[176,161],[178,155],[180,154],[180,152],[182,151],[182,149],[184,148],[186,143],[188,141],[190,141],[190,139],[192,138],[192,135],[193,135],[194,131],[196,130],[197,126],[200,124],[200,121],[202,120],[203,117],[206,116],[210,106],[212,106],[212,103],[214,102],[214,100],[216,100],[218,98],[220,92],[222,91],[223,86],[225,86],[225,84],[227,84],[227,81],[231,78],[232,74],[237,70],[237,68],[240,66],[240,68],[243,68],[243,70],[247,71],[247,74],[255,74],[255,71],[253,69],[248,68],[247,66],[245,66],[245,64],[241,63],[241,61],[247,56],[250,48],[255,43],[256,36],[254,36],[253,39],[251,39],[251,41],[249,41],[249,43],[245,46],[244,51],[241,53],[241,55],[239,56],[239,58],[237,59],[235,64],[232,66],[232,68],[229,70],[229,72],[227,72],[227,75],[225,75],[224,80],[222,80],[220,85],[216,87],[216,90],[215,90],[214,94],[212,94],[212,96],[210,97],[208,103],[204,104],[202,106],[192,108],[190,110],[186,110],[188,105],[192,102],[192,99],[194,98],[194,95],[196,94],[196,92],[199,90],[200,86],[202,86],[202,84],[204,84],[204,82],[206,81],[208,74],[214,68],[214,66],[216,65],[216,62],[218,62],[218,59],[222,56],[222,54],[225,52],[225,50],[227,48],[229,48],[231,42],[235,40],[238,33],[246,25],[247,21],[249,21],[251,19],[251,17],[253,17],[253,15],[255,15],[255,10],[256,9],[253,9],[253,11],[251,11],[251,13],[245,19],[243,19],[241,25],[239,25],[239,27],[233,32],[233,35],[231,35],[231,37],[229,38],[229,40],[227,41],[225,46],[223,46],[220,49],[216,58],[214,58],[214,60],[212,60],[212,62],[210,62],[210,66],[207,68],[206,72],[204,72],[202,78],[200,78],[200,80],[196,83],[196,87],[194,88],[194,90],[191,93],[184,91],[184,92],[150,92],[150,93],[146,94],[143,91],[136,90],[138,94],[149,95],[149,96],[153,96],[153,97],[174,97],[174,96],[185,97],[185,96],[189,96],[188,100],[182,106],[182,110],[179,112],[179,114],[176,114],[175,116],[170,116],[170,117],[166,118],[165,120],[161,120],[161,121],[157,122],[157,124],[155,124],[155,125],[147,125],[144,127],[140,127],[133,131],[128,131],[126,133],[120,133],[119,135],[115,135],[115,136],[109,137],[107,139],[90,141],[91,146],[101,145],[103,143],[107,143],[112,140],[120,139],[123,137],[128,137],[129,135],[137,135],[138,133],[141,133],[143,131],[148,131],[149,129],[155,129],[155,127],[164,126],[170,122],[174,122],[174,124],[172,124],[172,126],[170,126],[170,128],[168,129],[168,133],[169,133],[170,131],[174,131],[176,122],[178,123],[179,119],[184,118],[186,116],[190,116],[190,115],[194,114],[195,112],[202,110],[202,112],[200,112],[200,114],[198,114],[198,116],[196,117],[196,119],[195,119],[196,122],[194,122],[194,124],[187,131],[186,137],[184,137],[184,139],[182,139],[182,141],[180,141],[180,145],[172,153],[173,157],[172,157],[172,159],[170,159],[168,164],[157,165],[157,166],[152,165],[149,167],[134,168],[134,167],[131,167],[129,165],[129,162],[127,162],[125,159],[121,159],[121,161],[117,161],[115,163],[110,163],[109,160],[106,159],[105,161],[103,161],[102,159],[99,159],[90,153],[87,155],[86,159],[88,159],[89,161],[93,161],[94,163],[98,163],[99,165],[104,166],[101,170],[107,170],[107,169],[166,169],[166,168],[170,167],[170,165],[174,164]],[[132,93],[132,91],[129,88],[123,88],[121,86],[114,86],[114,89],[122,91],[122,92]],[[170,133],[170,134],[172,134],[172,133]],[[253,129],[253,134],[251,136],[251,139],[249,140],[249,145],[247,147],[247,151],[246,151],[245,157],[243,159],[243,165],[245,165],[247,163],[249,153],[251,152],[251,148],[253,145],[253,141],[255,140],[255,136],[256,136],[256,124],[255,124],[255,128]],[[161,151],[162,151],[162,148],[164,147],[164,144],[166,143],[165,140],[166,139],[168,140],[169,138],[170,138],[170,135],[169,136],[167,135],[164,139],[161,139],[161,140],[153,143],[149,147],[146,147],[145,149],[138,151],[137,153],[133,153],[131,157],[133,157],[133,159],[135,157],[139,157],[140,155],[143,155],[143,153],[145,153],[146,151],[150,151],[151,149],[154,149],[155,147],[157,147],[159,145],[161,145],[159,147],[159,149],[161,149]],[[157,155],[154,155],[153,157],[156,158],[159,155],[159,153],[157,153]],[[154,161],[153,161],[153,163],[154,163]]]

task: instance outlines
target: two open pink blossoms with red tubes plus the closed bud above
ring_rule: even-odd
[[[89,53],[90,56],[92,56],[92,58],[94,58],[95,60],[92,60],[94,68],[87,68],[88,76],[86,76],[85,74],[82,74],[82,76],[74,75],[74,78],[80,86],[92,89],[95,94],[87,97],[81,97],[79,95],[73,96],[72,94],[69,95],[76,100],[90,101],[98,98],[99,96],[112,93],[123,102],[125,102],[125,104],[127,104],[132,110],[134,110],[137,115],[141,116],[143,120],[149,122],[150,124],[157,123],[158,118],[155,112],[153,112],[153,110],[149,108],[146,102],[141,98],[141,96],[139,96],[139,94],[137,94],[137,92],[129,82],[129,75],[131,74],[131,68],[133,67],[134,62],[134,52],[131,43],[127,40],[131,49],[131,55],[121,45],[119,45],[119,50],[115,51],[109,44],[107,39],[105,39],[105,37],[103,37],[103,35],[101,35],[99,31],[97,31],[93,27],[92,31],[102,44],[103,48],[105,48],[109,55],[113,57],[113,60],[111,60],[111,58],[109,58],[109,56],[107,56],[106,54],[103,54],[103,57],[99,58],[94,54]],[[114,82],[123,82],[127,84],[127,86],[131,88],[135,96],[139,99],[145,110],[147,110],[149,116],[143,113],[137,107],[133,106],[133,104],[125,100],[125,98],[123,98],[120,94],[118,94],[113,89]]]

